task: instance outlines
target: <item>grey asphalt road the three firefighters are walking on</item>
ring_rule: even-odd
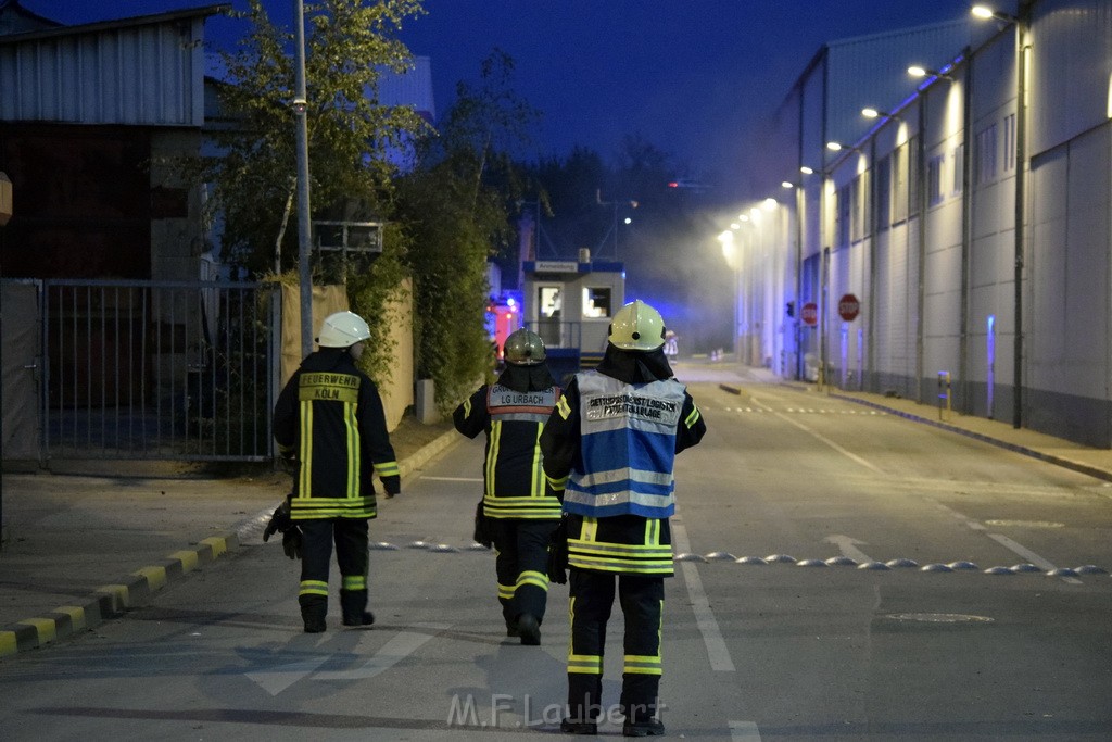
[[[1105,483],[788,387],[692,392],[708,433],[677,468],[671,739],[1112,739]],[[493,555],[469,547],[480,457],[456,446],[381,503],[374,630],[302,634],[296,566],[245,534],[150,605],[0,664],[0,736],[556,734],[567,590],[549,591],[542,646],[503,635]],[[1089,565],[1105,572],[1048,575]]]

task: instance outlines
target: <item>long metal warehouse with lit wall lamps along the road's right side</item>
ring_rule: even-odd
[[[934,403],[945,374],[962,412],[1110,446],[1112,6],[980,22],[927,29],[922,60],[898,34],[832,43],[801,77],[781,151],[796,259],[764,280],[816,319],[764,317],[764,342],[798,354],[786,375]],[[912,61],[942,75],[916,86]],[[855,136],[866,103],[882,116]]]

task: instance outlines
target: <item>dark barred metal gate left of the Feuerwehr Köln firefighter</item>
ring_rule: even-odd
[[[41,323],[41,345],[28,362],[6,355],[4,366],[38,374],[40,463],[272,456],[277,285],[43,280],[39,287],[38,317],[6,310],[4,325]]]

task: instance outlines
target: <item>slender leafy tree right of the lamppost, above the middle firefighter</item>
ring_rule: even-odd
[[[512,244],[508,215],[522,184],[510,151],[536,118],[512,79],[513,59],[495,50],[481,63],[479,86],[457,86],[439,133],[418,148],[419,167],[398,181],[419,315],[417,374],[434,379],[441,412],[490,369],[487,259]]]

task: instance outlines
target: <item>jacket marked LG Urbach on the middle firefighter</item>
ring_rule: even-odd
[[[558,520],[560,504],[540,465],[540,431],[560,389],[546,368],[507,366],[453,413],[468,438],[486,433],[483,511],[492,518]]]

